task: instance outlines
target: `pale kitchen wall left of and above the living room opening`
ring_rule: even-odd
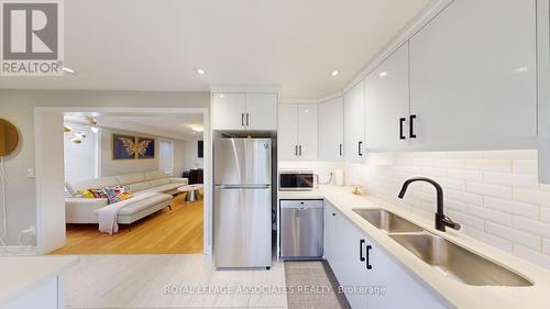
[[[36,224],[36,188],[26,169],[34,168],[35,107],[209,108],[209,92],[0,90],[0,115],[21,131],[19,152],[7,157],[9,245],[19,231]],[[62,129],[59,128],[59,131]],[[63,143],[59,144],[63,152]]]

